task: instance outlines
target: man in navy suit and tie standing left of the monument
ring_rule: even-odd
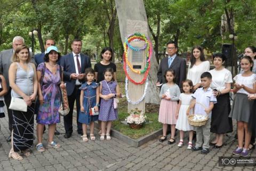
[[[83,134],[82,124],[78,122],[80,110],[80,93],[79,87],[85,79],[85,69],[92,67],[91,60],[88,56],[81,54],[82,41],[75,39],[71,44],[72,53],[62,56],[60,65],[63,66],[63,78],[67,87],[68,105],[70,112],[64,116],[65,138],[70,138],[73,132],[73,109],[76,100],[76,122],[77,133]]]

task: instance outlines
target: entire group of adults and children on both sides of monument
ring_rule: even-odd
[[[100,140],[110,140],[111,122],[117,119],[114,99],[121,97],[116,82],[116,65],[111,62],[113,49],[102,49],[101,61],[92,69],[90,58],[81,53],[82,41],[74,39],[72,52],[61,56],[55,41],[46,39],[45,52],[33,56],[22,37],[14,37],[13,48],[0,53],[0,117],[4,117],[4,102],[9,117],[11,141],[9,157],[17,160],[30,155],[33,147],[34,114],[37,122],[37,145],[45,151],[43,133],[49,125],[49,148],[60,148],[55,142],[58,134],[56,124],[60,123],[59,108],[62,100],[61,89],[66,88],[70,112],[63,117],[65,138],[73,133],[73,109],[76,101],[77,133],[84,142],[95,140],[94,121],[99,120]],[[175,143],[175,129],[180,130],[178,147],[182,147],[184,131],[189,131],[188,149],[206,154],[210,146],[221,148],[226,133],[233,131],[232,118],[237,120],[238,146],[235,155],[247,156],[250,143],[255,139],[255,100],[256,48],[245,49],[241,59],[242,71],[232,79],[225,69],[226,56],[213,55],[215,68],[210,70],[210,62],[204,58],[203,48],[192,49],[188,73],[186,61],[177,56],[178,47],[174,42],[166,45],[168,57],[162,59],[157,72],[157,86],[161,87],[158,121],[163,123],[163,136],[166,140],[167,125],[171,125],[171,138],[168,144]],[[209,71],[210,70],[210,71]],[[187,74],[186,74],[187,73]],[[230,106],[229,92],[234,80],[235,99]],[[161,86],[162,85],[162,86]],[[181,93],[182,91],[182,93]],[[27,104],[27,112],[9,109],[12,98],[22,98]],[[254,105],[254,106],[253,106]],[[191,126],[188,115],[201,114],[207,122],[203,126]],[[90,137],[87,137],[87,126]],[[196,131],[196,144],[193,146],[193,131]],[[210,142],[210,132],[215,139]],[[252,148],[251,147],[251,148]]]

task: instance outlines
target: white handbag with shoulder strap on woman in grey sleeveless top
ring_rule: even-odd
[[[27,71],[27,79],[28,79],[28,71]],[[29,92],[29,85],[28,85],[28,92]],[[11,95],[12,95],[12,93],[11,93]],[[27,106],[26,101],[24,99],[12,96],[9,109],[19,110],[21,112],[27,112],[28,106]]]

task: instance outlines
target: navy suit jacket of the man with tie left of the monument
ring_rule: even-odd
[[[91,59],[84,55],[81,56],[81,73],[85,72],[85,69],[92,67]],[[63,80],[66,82],[67,95],[70,96],[74,91],[76,80],[71,79],[71,73],[76,73],[76,67],[74,62],[73,53],[62,56],[60,59],[60,65],[63,67]]]

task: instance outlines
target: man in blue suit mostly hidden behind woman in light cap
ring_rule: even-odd
[[[45,49],[45,51],[50,46],[55,46],[55,41],[53,39],[48,38],[44,42],[44,49]],[[38,66],[39,64],[45,62],[44,61],[44,55],[45,55],[45,52],[43,52],[41,54],[36,54],[35,55],[36,66]],[[58,61],[58,64],[60,64],[60,60]],[[38,108],[39,108],[39,101],[36,101],[36,105],[35,105],[35,114],[36,115],[38,114]],[[45,126],[44,126],[44,131],[45,131]],[[56,130],[54,132],[54,135],[59,135],[59,134],[60,134],[60,132],[56,128]]]

